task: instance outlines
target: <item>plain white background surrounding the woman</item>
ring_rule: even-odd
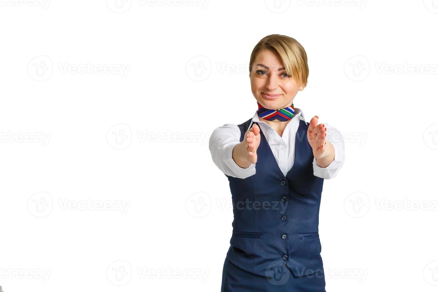
[[[233,212],[208,138],[253,116],[273,33],[307,52],[294,105],[344,134],[326,290],[436,291],[438,1],[276,1],[0,0],[5,292],[218,292]]]

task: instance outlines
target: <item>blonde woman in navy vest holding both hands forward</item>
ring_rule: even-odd
[[[309,74],[295,39],[261,39],[249,70],[257,111],[240,125],[216,128],[209,141],[233,200],[221,291],[325,291],[319,205],[324,179],[343,165],[343,139],[318,116],[307,123],[293,106]]]

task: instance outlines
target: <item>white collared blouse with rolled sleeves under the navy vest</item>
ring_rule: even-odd
[[[260,130],[265,135],[269,147],[272,150],[276,162],[286,176],[292,168],[295,158],[295,135],[298,130],[300,119],[304,120],[304,114],[299,108],[295,108],[295,116],[287,123],[283,136],[280,135],[265,122],[261,122],[255,111],[252,120],[260,125]],[[307,122],[306,122],[307,123]],[[318,121],[318,123],[320,123]],[[335,160],[325,168],[319,167],[316,158],[313,158],[313,174],[323,179],[332,179],[336,176],[345,161],[345,148],[342,134],[335,127],[324,123],[327,128],[325,140],[332,143],[335,148]],[[251,126],[250,126],[251,127]],[[246,129],[246,131],[249,130]],[[215,165],[227,176],[247,178],[255,174],[255,163],[248,168],[241,168],[233,159],[233,148],[240,143],[240,129],[237,125],[226,123],[217,127],[210,136],[208,148]]]

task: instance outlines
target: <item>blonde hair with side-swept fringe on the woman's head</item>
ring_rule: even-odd
[[[267,35],[255,45],[249,61],[250,76],[256,56],[265,49],[269,49],[280,56],[289,76],[292,76],[297,82],[301,81],[303,87],[307,85],[309,67],[307,66],[306,51],[296,39],[287,35]]]

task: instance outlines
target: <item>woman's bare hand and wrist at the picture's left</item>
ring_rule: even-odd
[[[248,168],[257,162],[257,148],[260,145],[260,128],[257,124],[247,130],[244,140],[233,148],[233,159],[241,168]]]

